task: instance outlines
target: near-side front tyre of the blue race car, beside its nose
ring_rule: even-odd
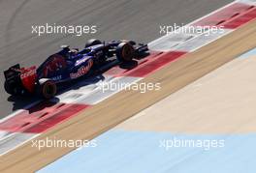
[[[119,43],[116,49],[116,58],[120,62],[130,62],[135,58],[135,49],[131,43]]]

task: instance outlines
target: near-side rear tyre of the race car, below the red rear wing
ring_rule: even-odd
[[[41,79],[39,82],[39,86],[37,88],[37,94],[46,99],[49,100],[51,98],[54,98],[54,96],[57,93],[57,86],[54,81],[49,79]]]

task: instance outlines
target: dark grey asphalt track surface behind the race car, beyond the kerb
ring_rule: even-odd
[[[40,1],[0,0],[0,69],[20,63],[38,65],[48,55],[67,43],[82,47],[87,39],[132,39],[148,43],[159,34],[159,25],[181,25],[216,10],[231,0],[132,0],[132,1]],[[56,23],[59,25],[96,25],[91,35],[32,34],[32,25]],[[1,72],[1,83],[4,76]],[[10,97],[0,87],[0,116],[6,117],[35,99]]]

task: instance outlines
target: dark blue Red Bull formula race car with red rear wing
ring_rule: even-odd
[[[5,90],[10,95],[33,94],[51,99],[57,93],[57,84],[89,76],[106,66],[108,59],[119,64],[133,61],[148,50],[143,43],[133,41],[89,40],[82,50],[62,45],[62,49],[48,57],[39,67],[20,68],[19,64],[5,71]]]

